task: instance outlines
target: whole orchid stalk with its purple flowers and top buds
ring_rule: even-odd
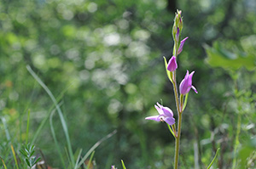
[[[167,127],[169,128],[170,132],[175,138],[174,169],[178,169],[178,157],[179,157],[179,148],[180,148],[183,110],[186,107],[190,89],[192,88],[195,91],[195,93],[197,93],[196,88],[192,86],[192,77],[195,71],[192,71],[189,74],[189,70],[187,70],[187,73],[184,76],[182,82],[180,82],[179,93],[177,90],[177,80],[176,80],[177,55],[181,54],[181,52],[183,51],[184,42],[189,38],[189,37],[186,37],[182,41],[180,41],[180,35],[183,29],[183,18],[181,16],[181,13],[182,12],[180,10],[177,10],[177,14],[175,16],[174,24],[172,27],[172,37],[174,40],[172,58],[167,63],[166,58],[164,57],[166,74],[169,80],[172,82],[173,92],[175,96],[175,103],[176,103],[176,109],[177,109],[177,127],[175,124],[175,119],[173,117],[172,110],[158,103],[154,105],[154,107],[158,111],[159,115],[146,117],[146,120],[166,122]]]

